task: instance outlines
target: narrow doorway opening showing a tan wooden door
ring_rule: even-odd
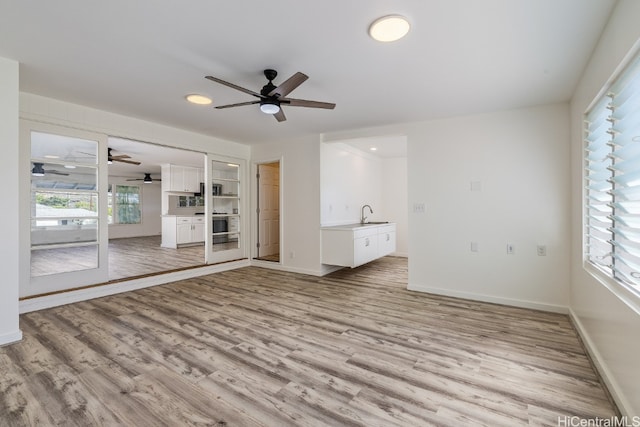
[[[257,173],[256,257],[280,262],[280,162],[260,163]]]

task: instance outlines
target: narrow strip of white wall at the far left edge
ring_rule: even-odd
[[[18,63],[0,58],[0,145],[3,159],[0,182],[5,209],[0,209],[0,235],[3,252],[0,256],[0,345],[22,339],[18,324],[18,295],[20,259],[18,248],[19,191],[19,122],[18,122]]]

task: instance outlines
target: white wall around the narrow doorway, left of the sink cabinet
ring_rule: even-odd
[[[280,160],[280,262],[290,271],[320,275],[320,139],[258,144],[251,148],[256,163]],[[251,228],[255,232],[255,173],[251,174]],[[256,242],[252,236],[252,245]],[[273,267],[273,263],[265,263]]]

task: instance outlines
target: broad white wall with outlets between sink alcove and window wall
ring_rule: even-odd
[[[568,113],[566,104],[511,110],[408,133],[409,288],[566,311]]]

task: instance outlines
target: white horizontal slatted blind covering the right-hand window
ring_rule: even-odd
[[[586,259],[640,290],[640,58],[585,115]]]

